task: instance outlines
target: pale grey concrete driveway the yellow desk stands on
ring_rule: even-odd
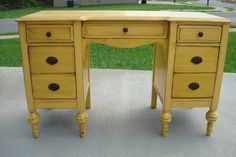
[[[161,104],[149,107],[151,71],[92,70],[92,108],[80,139],[73,110],[39,110],[40,137],[31,136],[21,68],[0,68],[1,157],[233,157],[236,154],[236,75],[225,73],[219,118],[205,136],[205,108],[172,109],[167,138]]]

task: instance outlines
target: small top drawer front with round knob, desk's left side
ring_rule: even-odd
[[[71,25],[28,25],[28,42],[72,42]]]

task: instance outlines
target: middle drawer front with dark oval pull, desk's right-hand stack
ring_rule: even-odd
[[[175,72],[216,72],[218,47],[176,47]]]

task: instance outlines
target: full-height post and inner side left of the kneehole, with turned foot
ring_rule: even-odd
[[[77,110],[76,122],[79,125],[80,137],[84,137],[88,115],[86,114],[86,91],[89,82],[88,43],[82,40],[81,21],[73,22],[74,49],[76,66]]]

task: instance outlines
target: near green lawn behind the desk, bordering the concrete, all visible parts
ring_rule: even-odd
[[[152,69],[152,45],[138,48],[113,48],[100,44],[90,46],[92,68]],[[18,39],[0,40],[0,66],[21,66]],[[236,72],[236,32],[229,35],[225,72]]]

